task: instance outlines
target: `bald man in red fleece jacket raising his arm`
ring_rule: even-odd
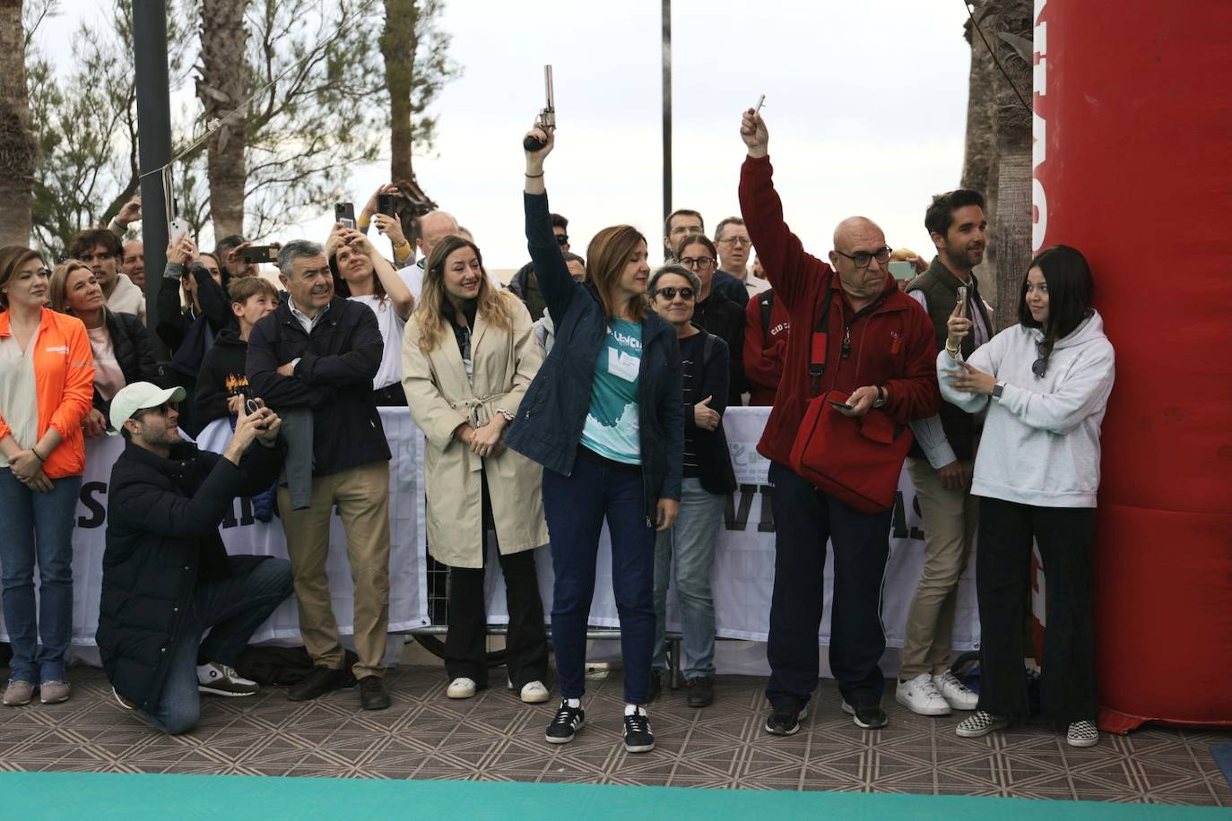
[[[791,337],[782,380],[758,452],[770,459],[775,510],[775,582],[766,657],[771,714],[766,732],[792,735],[817,687],[825,543],[834,544],[830,670],[843,709],[856,725],[886,725],[886,649],[881,588],[890,555],[892,510],[862,513],[822,492],[791,468],[791,447],[808,401],[828,390],[850,393],[846,411],[880,407],[898,425],[926,419],[941,401],[936,386],[933,322],[888,274],[891,249],[872,220],[849,217],[834,229],[830,265],[806,254],[782,219],[774,190],[765,122],[744,112],[740,138],[749,155],[740,167],[740,212],[765,266],[775,300],[787,309]],[[833,267],[830,267],[833,266]],[[808,366],[813,329],[830,293],[828,367],[818,379]]]

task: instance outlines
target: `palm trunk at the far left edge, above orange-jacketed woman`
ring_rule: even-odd
[[[26,90],[22,0],[0,0],[0,245],[28,245],[34,135]]]

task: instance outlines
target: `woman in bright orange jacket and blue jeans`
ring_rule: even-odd
[[[43,704],[69,698],[64,654],[73,635],[73,522],[94,364],[85,325],[44,306],[48,282],[37,251],[0,247],[0,602],[12,644],[7,707],[28,704],[34,689]]]

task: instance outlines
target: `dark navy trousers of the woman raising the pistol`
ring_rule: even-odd
[[[625,702],[650,698],[654,652],[654,528],[646,526],[641,471],[579,457],[572,476],[543,469],[543,513],[552,542],[552,641],[563,698],[586,692],[586,622],[595,595],[599,533],[612,540],[612,592],[620,614]]]

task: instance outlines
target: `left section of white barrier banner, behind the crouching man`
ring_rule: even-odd
[[[381,423],[389,439],[389,630],[404,631],[428,624],[428,597],[424,586],[424,459],[423,433],[410,421],[405,409],[379,409]],[[230,439],[228,420],[211,423],[197,437],[203,451],[221,453]],[[73,531],[73,644],[94,646],[99,628],[99,599],[102,593],[102,554],[106,549],[107,485],[111,465],[124,449],[118,436],[86,443],[86,468],[78,501],[78,521]],[[346,534],[334,511],[330,523],[330,548],[326,561],[334,617],[341,633],[354,633],[354,588],[346,560]],[[237,499],[232,513],[221,524],[223,543],[232,554],[287,556],[282,524],[253,518],[248,499]],[[34,580],[38,585],[37,575]],[[0,638],[7,640],[0,617]],[[299,618],[294,599],[283,602],[253,635],[253,641],[271,639],[299,640]],[[85,656],[89,657],[89,656]]]

